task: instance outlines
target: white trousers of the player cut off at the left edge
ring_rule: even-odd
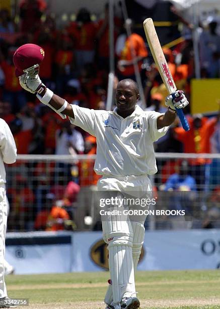
[[[7,228],[7,197],[5,184],[0,185],[0,298],[7,296],[5,283],[5,250]]]

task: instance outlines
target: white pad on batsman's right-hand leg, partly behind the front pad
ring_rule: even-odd
[[[131,222],[131,226],[133,230],[132,258],[133,258],[134,272],[136,272],[141,248],[143,245],[145,228],[139,222]]]

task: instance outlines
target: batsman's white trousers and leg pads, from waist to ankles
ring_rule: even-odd
[[[123,200],[134,198],[135,204],[128,207],[126,201],[123,201],[123,209],[134,210],[136,201],[144,197],[145,199],[151,198],[152,185],[146,175],[103,176],[98,181],[98,191],[100,191],[102,202],[104,199],[109,201],[112,196],[114,198],[120,196]],[[115,199],[112,200],[114,202]],[[112,285],[107,290],[105,302],[118,304],[122,297],[136,295],[134,272],[143,243],[143,224],[146,216],[124,215],[123,210],[115,207],[115,204],[111,204],[109,209],[117,209],[119,213],[102,216],[103,239],[108,243],[109,270],[112,281]],[[148,206],[145,209],[148,209]],[[120,210],[122,210],[121,214]]]

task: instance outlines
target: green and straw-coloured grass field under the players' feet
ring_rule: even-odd
[[[29,308],[105,308],[108,272],[7,277],[12,298],[29,298]],[[137,272],[141,308],[220,308],[220,273],[211,271]],[[24,307],[25,308],[25,307]]]

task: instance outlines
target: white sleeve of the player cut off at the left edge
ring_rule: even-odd
[[[14,137],[8,126],[8,124],[1,121],[1,132],[0,132],[0,150],[3,157],[3,161],[7,164],[15,163],[17,157],[17,148]]]

